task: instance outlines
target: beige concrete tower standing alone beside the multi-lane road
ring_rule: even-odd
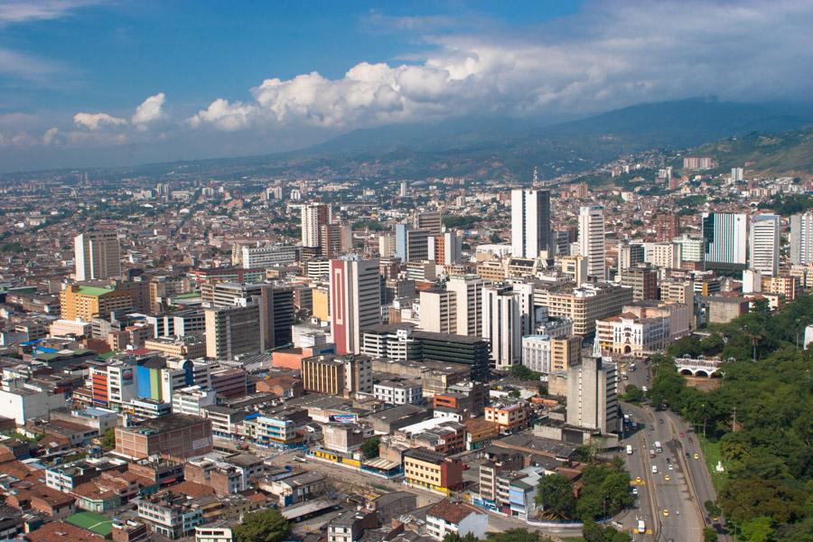
[[[584,357],[567,369],[567,423],[602,434],[618,431],[614,363]]]

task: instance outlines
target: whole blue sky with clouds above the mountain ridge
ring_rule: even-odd
[[[0,0],[0,171],[698,96],[809,102],[811,28],[813,0]]]

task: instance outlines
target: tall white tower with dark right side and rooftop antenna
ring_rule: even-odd
[[[550,242],[550,191],[511,191],[511,247],[514,257],[553,257]]]

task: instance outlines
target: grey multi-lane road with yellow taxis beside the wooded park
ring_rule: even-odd
[[[649,386],[647,369],[636,365],[638,369],[627,372],[629,380],[623,383],[635,384],[639,388]],[[656,412],[649,406],[627,404],[622,408],[625,414],[629,413],[637,422],[645,424],[643,430],[624,439],[623,444],[637,447],[637,461],[628,462],[633,479],[641,476],[642,471],[648,474],[646,485],[649,487],[639,488],[640,502],[644,503],[642,506],[645,509],[656,512],[652,522],[653,531],[659,535],[656,539],[702,541],[703,528],[710,523],[704,503],[715,500],[716,493],[694,429],[672,412]],[[650,458],[649,450],[654,449],[656,441],[663,447],[663,453],[656,453],[654,458]],[[657,468],[657,473],[652,472],[652,465]],[[668,470],[669,465],[672,471]],[[668,510],[668,516],[664,516],[664,509]],[[647,524],[649,527],[649,521]],[[729,542],[730,538],[721,534],[720,540]]]

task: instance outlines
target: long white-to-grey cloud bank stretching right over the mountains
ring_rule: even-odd
[[[403,28],[414,29],[413,19]],[[266,79],[250,90],[253,102],[218,98],[190,125],[359,127],[481,112],[592,112],[710,94],[804,98],[811,27],[813,6],[789,0],[593,2],[571,18],[511,34],[425,36],[431,52],[417,63],[362,61],[340,79],[315,71]]]

